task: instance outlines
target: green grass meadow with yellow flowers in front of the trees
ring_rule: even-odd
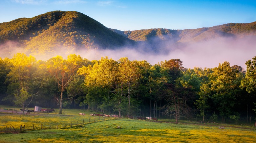
[[[66,110],[66,109],[65,109]],[[64,111],[64,110],[63,110]],[[174,124],[137,119],[96,119],[88,110],[67,109],[65,115],[35,113],[0,114],[0,143],[14,142],[256,142],[256,128],[225,124]],[[85,116],[78,115],[85,113]],[[97,117],[98,118],[98,117]],[[89,123],[90,119],[90,123]],[[84,121],[84,124],[83,124]],[[71,127],[71,122],[72,127]],[[78,125],[76,125],[76,123]],[[32,130],[32,124],[34,130]],[[56,125],[58,124],[58,129]],[[63,124],[66,124],[63,127]],[[25,131],[6,133],[13,126]],[[43,130],[41,130],[41,125]],[[225,129],[218,129],[224,126]],[[50,128],[49,128],[50,127]]]

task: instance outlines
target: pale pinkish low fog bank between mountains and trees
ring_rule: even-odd
[[[256,36],[246,38],[215,38],[212,40],[189,43],[173,43],[165,41],[159,44],[158,49],[152,49],[149,44],[139,44],[136,47],[123,47],[115,50],[110,49],[65,49],[56,48],[55,52],[32,55],[37,60],[48,60],[60,55],[67,58],[70,54],[80,55],[89,60],[99,60],[101,57],[108,56],[114,60],[121,57],[128,57],[130,60],[146,60],[151,64],[169,59],[180,59],[185,68],[218,67],[219,63],[230,62],[230,66],[239,65],[246,69],[245,62],[256,56]],[[157,44],[155,44],[157,45]],[[16,53],[26,53],[18,47],[16,43],[6,43],[0,46],[0,57],[12,58]]]

